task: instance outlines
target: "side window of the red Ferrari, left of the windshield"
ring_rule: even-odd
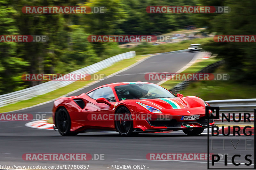
[[[92,99],[96,100],[98,98],[104,97],[109,102],[116,102],[114,93],[110,87],[101,87],[99,89],[94,90],[93,92],[94,93],[92,94],[92,96],[89,95],[90,93],[88,94],[88,96],[90,96]]]

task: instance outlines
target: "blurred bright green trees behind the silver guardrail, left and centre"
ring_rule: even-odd
[[[195,5],[193,0],[2,0],[1,35],[47,35],[48,42],[0,43],[0,94],[20,90],[41,82],[22,81],[25,73],[67,73],[110,56],[130,51],[118,43],[91,43],[88,35],[147,35],[168,33],[195,25],[190,14],[150,14],[150,5]],[[107,8],[106,13],[29,14],[23,6],[91,6]],[[132,48],[159,51],[145,43]],[[178,48],[178,47],[177,47]],[[163,48],[169,51],[168,47]],[[151,52],[150,51],[150,52]],[[246,64],[246,63],[245,63]]]

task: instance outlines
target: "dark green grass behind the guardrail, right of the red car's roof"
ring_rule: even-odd
[[[227,73],[219,68],[215,73]],[[184,96],[197,96],[204,100],[248,99],[256,98],[256,85],[242,85],[231,80],[227,81],[197,81],[185,90],[180,91]]]

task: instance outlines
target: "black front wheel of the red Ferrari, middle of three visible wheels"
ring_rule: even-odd
[[[127,107],[119,107],[116,114],[131,114]],[[118,116],[117,116],[118,117]],[[115,127],[118,133],[124,137],[138,135],[139,132],[133,132],[133,121],[115,120]]]

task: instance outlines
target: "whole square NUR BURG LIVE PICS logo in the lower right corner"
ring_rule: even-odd
[[[210,115],[209,110],[212,110]],[[208,169],[255,169],[255,114],[255,108],[206,106],[208,122],[209,119],[214,119],[215,123],[221,121],[220,127],[211,127],[211,132],[208,124],[207,150],[208,155],[211,153]]]

